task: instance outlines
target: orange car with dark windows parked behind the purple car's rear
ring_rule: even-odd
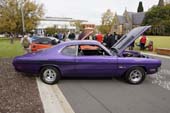
[[[31,51],[36,52],[38,50],[50,48],[53,45],[56,45],[58,43],[59,43],[59,40],[54,37],[38,38],[32,41]]]

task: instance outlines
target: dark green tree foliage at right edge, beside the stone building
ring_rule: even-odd
[[[170,35],[170,4],[152,7],[145,15],[143,25],[152,25],[151,35]]]

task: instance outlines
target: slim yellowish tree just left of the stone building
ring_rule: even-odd
[[[102,15],[102,24],[99,27],[99,31],[102,33],[108,33],[111,31],[112,25],[113,25],[113,18],[114,14],[111,12],[110,9],[108,9],[105,13]]]

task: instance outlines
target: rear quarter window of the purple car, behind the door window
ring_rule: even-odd
[[[61,51],[61,53],[66,56],[76,56],[77,46],[67,46]]]

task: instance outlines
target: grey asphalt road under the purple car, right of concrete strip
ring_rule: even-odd
[[[58,85],[75,113],[170,113],[170,59],[161,60],[161,71],[141,85],[118,79],[64,79]]]

